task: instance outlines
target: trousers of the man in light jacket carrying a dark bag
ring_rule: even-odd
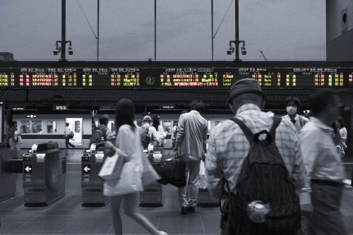
[[[200,160],[191,160],[186,155],[179,157],[186,162],[186,186],[178,188],[180,207],[195,207],[198,199],[198,174],[200,173]],[[188,192],[188,194],[186,194]]]

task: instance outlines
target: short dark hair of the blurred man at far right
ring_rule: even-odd
[[[320,88],[310,95],[311,109],[313,116],[318,116],[327,107],[328,104],[333,104],[335,100],[335,92],[328,88]]]

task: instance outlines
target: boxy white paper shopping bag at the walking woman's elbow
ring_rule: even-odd
[[[124,152],[117,151],[112,157],[107,157],[100,169],[98,176],[103,179],[119,179],[121,174],[121,169],[124,166],[125,157],[127,155]]]

